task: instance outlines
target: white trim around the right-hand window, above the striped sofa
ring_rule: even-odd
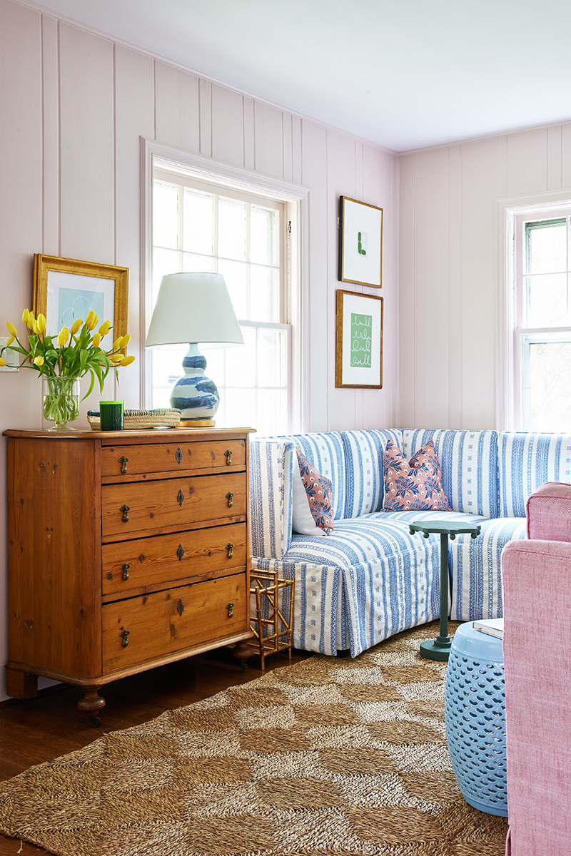
[[[497,376],[496,430],[521,431],[520,358],[515,330],[515,237],[520,215],[538,218],[571,206],[571,187],[497,199]]]

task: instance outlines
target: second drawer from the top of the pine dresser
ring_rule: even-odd
[[[133,533],[163,527],[185,528],[203,520],[246,514],[245,473],[221,473],[101,488],[103,537],[133,538]]]

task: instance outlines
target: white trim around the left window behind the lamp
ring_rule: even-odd
[[[141,227],[140,227],[140,341],[145,348],[146,331],[151,323],[151,277],[152,277],[152,188],[155,159],[171,163],[172,169],[183,175],[190,175],[198,181],[207,181],[220,187],[235,187],[247,193],[257,193],[262,197],[283,199],[285,203],[286,229],[292,223],[291,258],[297,259],[292,270],[286,266],[288,282],[288,321],[292,325],[291,336],[291,390],[296,395],[291,398],[292,431],[306,431],[307,413],[309,413],[309,385],[306,372],[302,371],[306,356],[309,354],[309,294],[305,283],[309,282],[309,259],[305,248],[309,246],[309,188],[291,181],[283,181],[270,175],[260,175],[251,169],[231,166],[212,158],[203,158],[182,152],[179,149],[163,146],[154,140],[140,138],[141,146]],[[286,253],[288,251],[286,243]],[[140,398],[143,407],[149,407],[151,401],[152,378],[151,356],[141,354],[140,360]],[[255,427],[255,425],[253,426]]]

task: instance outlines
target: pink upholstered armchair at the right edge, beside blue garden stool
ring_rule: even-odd
[[[571,484],[527,500],[502,554],[511,856],[571,854]]]

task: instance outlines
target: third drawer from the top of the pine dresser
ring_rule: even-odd
[[[102,593],[172,584],[182,578],[246,565],[246,524],[136,538],[102,547]]]

